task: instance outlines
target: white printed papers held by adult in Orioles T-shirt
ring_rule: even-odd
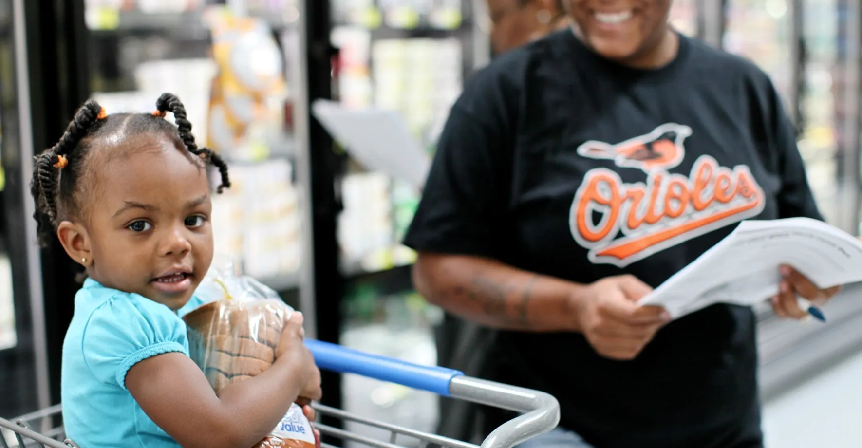
[[[862,281],[862,241],[810,218],[742,221],[734,232],[640,300],[674,318],[717,302],[754,305],[778,293],[788,264],[819,288]]]

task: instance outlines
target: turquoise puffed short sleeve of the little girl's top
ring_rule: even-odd
[[[142,296],[117,295],[90,316],[82,341],[84,362],[103,383],[126,389],[126,374],[144,359],[189,354],[186,327],[177,314]]]

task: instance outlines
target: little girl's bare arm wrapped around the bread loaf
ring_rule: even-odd
[[[221,396],[200,367],[177,352],[135,364],[128,370],[126,388],[184,448],[247,448],[272,432],[299,396],[320,398],[320,373],[302,337],[302,319],[291,319],[272,367],[229,385]]]

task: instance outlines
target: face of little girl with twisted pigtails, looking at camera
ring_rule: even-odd
[[[84,191],[78,244],[90,252],[87,273],[106,287],[182,308],[213,258],[206,170],[164,137],[142,135],[122,146],[100,160]]]

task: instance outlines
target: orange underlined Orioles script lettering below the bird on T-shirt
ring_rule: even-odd
[[[690,177],[653,171],[646,183],[625,184],[614,171],[596,168],[575,195],[570,226],[590,258],[639,258],[649,247],[757,215],[763,196],[747,166],[731,170],[705,155]],[[620,233],[624,237],[615,239]]]

